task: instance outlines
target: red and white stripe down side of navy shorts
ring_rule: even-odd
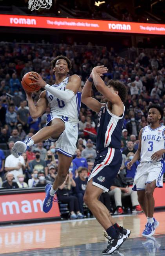
[[[102,169],[107,166],[107,165],[110,165],[110,163],[112,162],[112,159],[114,157],[114,151],[115,149],[114,148],[109,148],[108,149],[108,153],[107,155],[105,156],[104,160],[102,163],[98,163],[94,169],[92,170],[89,178],[88,178],[88,181],[91,180],[91,178],[93,178],[96,174],[98,174],[98,172],[102,171]]]

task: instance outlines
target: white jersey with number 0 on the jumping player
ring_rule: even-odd
[[[69,77],[65,78],[60,84],[52,86],[58,90],[65,91],[68,82]],[[47,115],[47,123],[53,120],[55,116],[62,118],[64,121],[69,121],[70,119],[78,123],[81,95],[82,93],[77,92],[69,102],[64,102],[47,91],[46,98],[51,107],[51,113]]]

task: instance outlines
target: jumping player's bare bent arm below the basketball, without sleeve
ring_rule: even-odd
[[[29,112],[31,114],[32,118],[38,118],[40,117],[47,108],[47,100],[46,100],[46,91],[43,91],[40,93],[38,102],[36,106],[34,105],[33,99],[32,99],[32,94],[29,92],[26,92],[27,95],[27,101],[28,101],[28,106],[29,106]]]

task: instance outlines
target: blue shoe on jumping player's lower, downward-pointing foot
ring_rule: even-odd
[[[42,203],[42,209],[45,213],[49,212],[52,208],[53,202],[57,202],[56,199],[54,199],[54,196],[50,195],[50,190],[51,190],[52,185],[51,184],[47,184],[45,186],[45,192],[46,192],[46,196],[45,199]]]

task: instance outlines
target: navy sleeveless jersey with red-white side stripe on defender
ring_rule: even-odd
[[[122,116],[112,114],[108,109],[108,105],[100,109],[97,124],[97,151],[100,152],[108,147],[120,149],[124,117],[125,107]]]

